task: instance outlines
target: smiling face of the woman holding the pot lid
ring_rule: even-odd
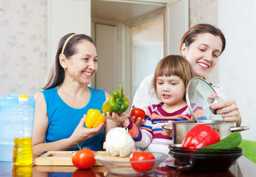
[[[221,38],[208,32],[198,34],[189,45],[183,43],[182,55],[189,61],[195,77],[206,76],[218,62],[222,50]]]

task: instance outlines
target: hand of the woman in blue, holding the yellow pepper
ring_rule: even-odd
[[[85,119],[86,119],[86,114],[80,120],[80,123],[77,125],[76,129],[74,129],[74,132],[72,133],[72,135],[69,137],[69,139],[72,141],[74,145],[80,144],[85,140],[88,140],[93,136],[98,135],[106,126],[106,123],[101,123],[96,128],[88,129],[84,127]]]

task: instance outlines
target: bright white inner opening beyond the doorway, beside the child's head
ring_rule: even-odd
[[[133,89],[137,90],[141,81],[154,74],[155,66],[164,56],[164,18],[132,27],[132,73]]]

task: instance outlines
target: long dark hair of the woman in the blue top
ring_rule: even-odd
[[[61,65],[60,65],[59,55],[61,54],[61,50],[63,48],[64,43],[67,41],[67,38],[69,38],[73,34],[74,33],[69,33],[67,35],[64,35],[64,37],[62,37],[60,39],[60,42],[57,47],[57,53],[55,56],[55,60],[54,60],[53,64],[51,65],[51,69],[48,74],[46,86],[43,87],[44,90],[51,89],[51,88],[59,86],[61,83],[63,83],[65,74],[64,74],[63,67],[61,67]],[[67,41],[66,47],[64,48],[64,51],[63,51],[63,54],[65,55],[65,57],[67,59],[69,59],[72,55],[77,53],[76,44],[78,44],[79,42],[82,42],[82,41],[89,41],[93,45],[95,45],[92,38],[89,37],[88,35],[85,35],[85,34],[74,35],[72,38],[70,38]]]

